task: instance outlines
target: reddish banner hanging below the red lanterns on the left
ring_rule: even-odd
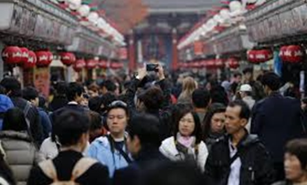
[[[50,72],[49,68],[37,68],[34,70],[34,85],[35,88],[43,93],[45,97],[49,96],[50,88]]]

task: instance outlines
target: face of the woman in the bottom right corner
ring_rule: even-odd
[[[307,175],[306,169],[302,169],[300,160],[290,153],[285,153],[285,177],[295,183],[301,183]]]

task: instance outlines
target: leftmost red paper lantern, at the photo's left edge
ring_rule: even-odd
[[[22,62],[22,50],[17,46],[5,47],[2,58],[8,64],[19,64]]]

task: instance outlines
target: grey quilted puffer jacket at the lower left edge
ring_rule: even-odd
[[[17,184],[26,185],[33,164],[41,161],[34,143],[28,134],[16,131],[1,131],[0,141]]]

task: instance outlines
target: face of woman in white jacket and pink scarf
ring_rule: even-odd
[[[186,114],[179,120],[179,133],[182,136],[191,136],[195,129],[195,121],[191,113]]]

